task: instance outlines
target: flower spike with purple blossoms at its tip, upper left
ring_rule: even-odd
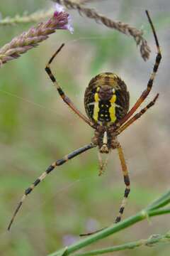
[[[57,29],[67,29],[72,33],[73,28],[70,23],[69,14],[60,5],[56,4],[56,9],[53,16],[47,21],[38,23],[37,26],[13,38],[10,43],[6,43],[0,49],[0,65],[18,58],[21,54],[26,53],[27,50],[38,46],[38,43],[46,40]]]

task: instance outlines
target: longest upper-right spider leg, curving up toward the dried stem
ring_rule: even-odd
[[[154,29],[154,25],[152,23],[152,20],[149,16],[148,11],[146,11],[146,14],[147,14],[147,18],[149,20],[150,26],[152,28],[152,32],[154,34],[154,41],[155,41],[156,46],[157,46],[157,56],[156,56],[156,60],[155,60],[155,63],[154,63],[154,68],[153,68],[152,74],[149,78],[149,81],[147,82],[147,89],[144,92],[142,92],[142,95],[137,100],[135,105],[131,108],[131,110],[128,112],[128,114],[126,114],[125,117],[123,119],[121,119],[120,122],[118,122],[118,125],[120,125],[120,126],[122,124],[124,124],[132,116],[132,114],[134,114],[134,112],[137,110],[137,108],[140,107],[142,102],[146,99],[147,95],[149,95],[149,92],[152,90],[152,85],[153,85],[154,78],[155,78],[155,75],[156,75],[158,67],[159,67],[159,63],[161,62],[161,59],[162,59],[162,54],[161,54],[161,50],[160,50],[160,47],[159,47],[157,34],[156,34],[155,29]]]

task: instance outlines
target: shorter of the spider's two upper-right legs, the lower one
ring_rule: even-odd
[[[159,94],[156,95],[156,97],[154,97],[154,100],[152,100],[151,102],[149,102],[149,104],[143,108],[142,110],[140,110],[139,113],[135,114],[134,117],[132,117],[131,119],[128,120],[128,122],[126,122],[122,127],[120,127],[118,129],[118,134],[120,134],[121,132],[123,132],[126,128],[128,128],[130,126],[130,124],[132,124],[133,122],[135,122],[138,118],[140,118],[142,116],[142,114],[145,114],[145,112],[149,109],[149,107],[152,107],[154,105],[154,103],[156,102],[157,98],[158,98]]]

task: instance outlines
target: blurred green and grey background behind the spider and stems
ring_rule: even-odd
[[[0,2],[1,16],[31,13],[52,6],[51,1]],[[24,190],[56,159],[91,142],[93,130],[62,102],[45,73],[54,51],[66,43],[52,64],[65,93],[84,112],[84,90],[94,75],[114,72],[125,80],[130,105],[147,85],[156,55],[145,9],[149,9],[162,46],[162,63],[147,98],[159,92],[157,104],[121,134],[131,178],[131,193],[124,218],[147,206],[169,188],[169,1],[111,1],[89,4],[115,20],[142,28],[152,49],[145,63],[133,38],[85,17],[72,15],[74,34],[57,31],[28,53],[0,70],[0,255],[47,255],[79,240],[79,233],[113,222],[124,193],[116,151],[105,174],[98,177],[97,150],[92,149],[53,171],[28,196],[11,232],[8,222]],[[1,46],[30,26],[0,27]],[[143,104],[146,105],[145,102]],[[169,216],[143,221],[106,240],[91,245],[119,245],[169,229]],[[115,255],[169,255],[169,245],[140,247]]]

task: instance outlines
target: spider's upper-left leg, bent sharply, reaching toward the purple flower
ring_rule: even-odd
[[[59,83],[57,82],[57,80],[55,79],[55,76],[52,74],[52,71],[50,69],[50,64],[52,63],[52,60],[54,60],[55,56],[57,55],[57,53],[60,52],[60,50],[62,50],[62,47],[64,46],[64,43],[62,44],[62,46],[60,46],[60,48],[55,52],[54,55],[52,55],[52,58],[50,58],[49,62],[47,63],[46,67],[45,67],[45,71],[47,72],[47,74],[49,75],[50,79],[52,80],[53,84],[55,85],[57,91],[59,92],[60,96],[62,97],[62,100],[64,100],[64,102],[79,116],[81,117],[81,119],[84,120],[84,122],[86,122],[87,124],[89,124],[91,127],[93,127],[93,123],[91,123],[91,121],[84,115],[81,114],[81,112],[79,112],[79,110],[77,110],[77,107],[74,106],[74,104],[72,103],[71,100],[69,100],[69,97],[67,97],[62,88],[60,87]]]

